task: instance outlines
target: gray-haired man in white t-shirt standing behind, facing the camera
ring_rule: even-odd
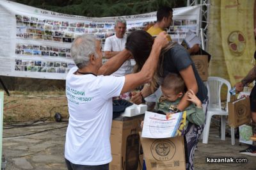
[[[113,58],[116,54],[125,49],[126,43],[126,21],[122,17],[115,20],[115,35],[106,38],[104,45],[104,54],[107,59]],[[132,72],[131,60],[127,60],[112,75],[123,76]]]

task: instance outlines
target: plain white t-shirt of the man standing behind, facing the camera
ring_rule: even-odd
[[[125,49],[126,36],[117,38],[116,35],[106,38],[104,51],[121,51]],[[130,59],[125,61],[123,65],[111,75],[123,76],[132,72],[132,65]]]

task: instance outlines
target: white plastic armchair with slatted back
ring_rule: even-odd
[[[227,105],[226,110],[221,109],[221,87],[225,84],[227,86]],[[231,85],[228,81],[221,77],[208,77],[206,83],[209,96],[209,105],[207,110],[207,117],[205,121],[205,127],[203,132],[203,143],[208,143],[209,130],[211,125],[211,118],[213,115],[221,116],[221,140],[225,141],[225,130],[226,130],[226,118],[228,116],[228,102],[230,102],[230,89]],[[231,130],[231,144],[235,144],[235,130]]]

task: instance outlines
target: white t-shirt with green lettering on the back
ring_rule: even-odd
[[[120,95],[125,77],[75,75],[66,78],[69,121],[65,158],[73,164],[96,166],[112,160],[110,133],[112,97]]]

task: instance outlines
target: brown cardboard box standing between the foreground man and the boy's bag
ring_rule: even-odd
[[[142,120],[144,114],[130,118],[120,116],[113,120],[110,137],[113,160],[109,164],[110,170],[136,170],[143,166],[138,134]]]

